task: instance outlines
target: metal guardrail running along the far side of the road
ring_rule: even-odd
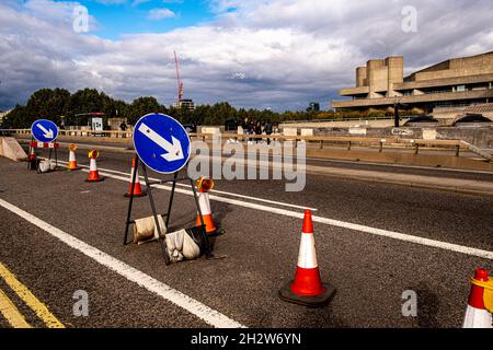
[[[10,133],[16,136],[30,136],[31,129],[0,129],[0,135]],[[59,130],[59,136],[61,137],[80,137],[80,138],[92,138],[92,137],[101,137],[101,138],[111,138],[112,140],[119,140],[125,142],[130,142],[131,140],[131,131],[94,131],[94,130]],[[239,140],[256,140],[256,139],[271,139],[277,141],[294,141],[295,147],[298,145],[299,142],[310,142],[310,143],[319,143],[319,149],[323,149],[326,145],[345,145],[348,151],[355,145],[359,147],[378,147],[379,152],[382,152],[383,149],[388,148],[412,148],[414,149],[414,153],[419,154],[421,148],[427,149],[452,149],[455,150],[455,155],[460,156],[461,151],[470,151],[473,152],[486,161],[492,160],[491,154],[480,150],[479,148],[461,141],[461,140],[410,140],[410,139],[401,139],[397,137],[392,138],[362,138],[362,137],[326,137],[326,136],[284,136],[284,135],[241,135],[241,133],[190,133],[191,139],[199,139],[206,142],[207,140],[213,140],[214,137],[220,136],[221,139],[239,139]]]

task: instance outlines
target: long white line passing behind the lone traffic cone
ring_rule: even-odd
[[[83,171],[87,172],[87,170],[83,170]],[[113,175],[110,173],[105,173],[103,175],[115,178],[115,179],[125,180],[125,182],[128,182],[128,176],[130,176],[130,174],[125,174],[125,175],[127,175],[127,177],[122,177],[122,176]],[[171,186],[153,185],[152,187],[171,190]],[[176,188],[176,192],[187,195],[187,196],[193,196],[192,190]],[[303,219],[303,217],[305,217],[305,213],[301,213],[301,212],[262,206],[262,205],[236,200],[236,199],[231,199],[231,198],[223,198],[223,197],[219,197],[219,196],[215,196],[215,195],[210,195],[209,198],[210,198],[210,200],[216,200],[216,201],[225,202],[225,203],[232,205],[232,206],[239,206],[239,207],[243,207],[243,208],[261,210],[261,211],[271,212],[274,214],[279,214],[279,215],[285,215],[285,217],[290,217],[290,218],[296,218],[296,219]],[[398,240],[398,241],[402,241],[402,242],[420,244],[420,245],[424,245],[424,246],[428,246],[428,247],[439,248],[439,249],[444,249],[444,250],[449,250],[449,252],[455,252],[455,253],[460,253],[460,254],[465,254],[465,255],[477,256],[480,258],[493,260],[493,252],[489,252],[489,250],[461,246],[461,245],[454,244],[454,243],[435,241],[435,240],[424,238],[424,237],[420,237],[420,236],[413,236],[413,235],[404,234],[404,233],[400,233],[400,232],[387,231],[387,230],[365,226],[365,225],[360,225],[360,224],[355,224],[355,223],[351,223],[351,222],[328,219],[328,218],[322,218],[322,217],[317,217],[317,215],[313,215],[312,220],[313,220],[313,222],[323,223],[323,224],[331,225],[331,226],[348,229],[352,231],[369,233],[369,234],[377,235],[377,236],[389,237],[389,238],[393,238],[393,240]]]

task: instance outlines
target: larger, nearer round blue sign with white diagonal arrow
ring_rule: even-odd
[[[172,174],[185,166],[191,142],[185,128],[164,114],[148,114],[134,129],[134,147],[140,160],[160,174]]]

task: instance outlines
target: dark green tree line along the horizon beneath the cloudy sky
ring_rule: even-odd
[[[32,94],[25,106],[16,106],[3,121],[7,128],[30,128],[36,119],[44,118],[66,126],[85,126],[88,113],[104,113],[106,117],[127,118],[129,125],[149,113],[164,113],[182,124],[225,125],[226,121],[241,122],[244,118],[261,122],[278,124],[285,120],[333,119],[343,116],[333,112],[284,112],[268,109],[237,109],[227,102],[214,105],[199,105],[194,110],[161,105],[156,97],[139,97],[131,103],[114,100],[95,89],[79,90],[73,94],[65,89],[41,89]]]

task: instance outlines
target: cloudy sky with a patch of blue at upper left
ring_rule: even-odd
[[[174,50],[196,103],[325,109],[370,58],[403,55],[410,73],[493,50],[492,10],[491,0],[1,0],[0,109],[57,86],[172,104]]]

